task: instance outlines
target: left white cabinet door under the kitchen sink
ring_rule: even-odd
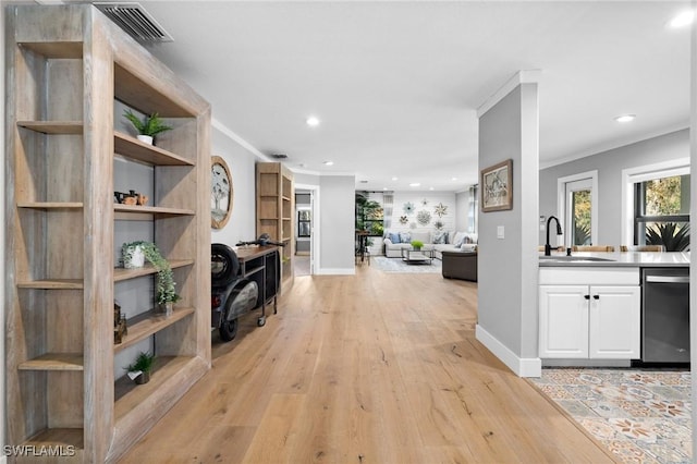
[[[540,285],[540,357],[588,357],[588,285]]]

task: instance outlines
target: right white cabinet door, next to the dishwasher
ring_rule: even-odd
[[[589,355],[591,358],[640,357],[638,286],[590,286]]]

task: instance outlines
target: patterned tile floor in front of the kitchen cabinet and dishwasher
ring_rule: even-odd
[[[529,380],[623,462],[692,462],[689,371],[545,368]]]

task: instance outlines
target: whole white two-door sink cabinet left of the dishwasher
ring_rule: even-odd
[[[540,357],[638,358],[638,283],[632,268],[540,269]]]

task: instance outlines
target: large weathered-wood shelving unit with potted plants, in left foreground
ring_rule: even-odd
[[[5,19],[7,443],[115,462],[210,368],[210,106],[91,5]],[[143,144],[115,129],[124,106],[173,130]],[[114,204],[117,159],[152,170],[147,206]],[[129,221],[149,224],[182,300],[170,317],[136,308],[114,345],[115,283],[156,273],[117,267]],[[148,341],[150,382],[117,376]]]

